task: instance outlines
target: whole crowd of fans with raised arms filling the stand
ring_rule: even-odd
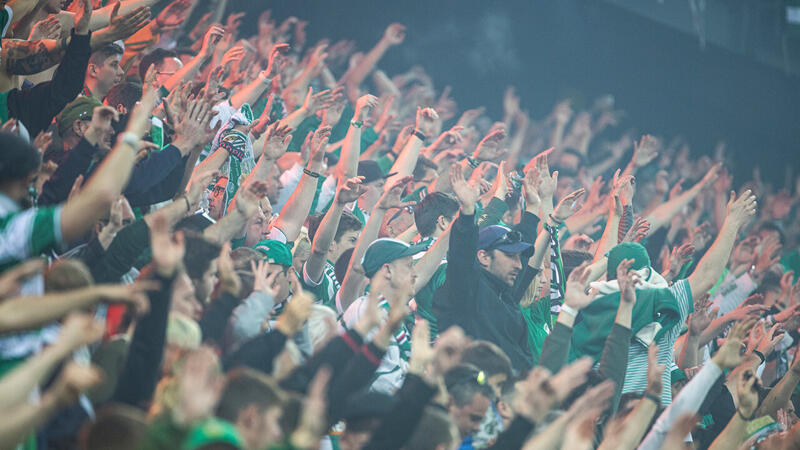
[[[800,448],[800,178],[396,23],[2,3],[0,448]]]

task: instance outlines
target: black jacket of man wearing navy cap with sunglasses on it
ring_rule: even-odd
[[[523,213],[517,230],[524,241],[534,242],[538,221],[533,214]],[[511,358],[514,369],[530,369],[533,357],[528,349],[528,328],[519,301],[537,272],[528,266],[533,249],[520,255],[523,269],[512,287],[480,267],[477,251],[475,217],[461,214],[450,231],[447,279],[433,299],[439,329],[444,331],[458,325],[474,339],[497,344]]]

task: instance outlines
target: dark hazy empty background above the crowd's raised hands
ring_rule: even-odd
[[[371,48],[391,22],[407,26],[405,42],[380,62],[390,76],[422,65],[453,88],[461,109],[484,105],[502,115],[513,85],[533,118],[572,96],[577,106],[603,94],[627,112],[620,132],[684,136],[694,154],[724,139],[738,182],[760,166],[783,179],[800,168],[800,79],[614,5],[590,0],[517,1],[277,1],[231,0],[247,11],[255,32],[259,13],[278,21],[309,20],[308,42],[352,39]]]

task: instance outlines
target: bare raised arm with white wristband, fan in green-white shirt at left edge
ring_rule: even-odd
[[[84,188],[64,204],[61,211],[61,236],[64,242],[74,241],[93,227],[127,185],[142,136],[149,128],[150,114],[155,107],[157,92],[154,79],[155,70],[151,69],[142,100],[131,113],[125,133]]]

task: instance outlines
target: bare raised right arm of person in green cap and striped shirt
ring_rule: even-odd
[[[756,196],[750,190],[745,191],[738,199],[736,199],[735,193],[731,192],[725,222],[722,224],[717,239],[714,240],[703,259],[697,263],[697,269],[689,275],[689,286],[695,300],[708,292],[717,282],[731,256],[739,229],[747,224],[755,213]]]

